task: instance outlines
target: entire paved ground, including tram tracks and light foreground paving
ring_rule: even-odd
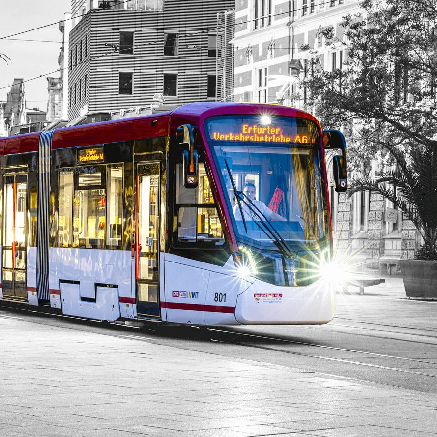
[[[124,327],[3,302],[0,435],[436,435],[437,303],[396,281],[337,294],[324,326]]]

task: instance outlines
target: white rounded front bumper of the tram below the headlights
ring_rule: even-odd
[[[256,280],[237,296],[235,319],[250,324],[325,324],[334,318],[335,290],[323,280],[281,287]]]

